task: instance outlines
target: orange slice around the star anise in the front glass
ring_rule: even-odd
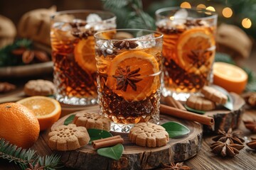
[[[129,84],[125,91],[117,89],[117,79],[113,76],[119,76],[119,69],[126,69],[127,67],[129,67],[131,72],[139,69],[139,75],[136,78],[141,80],[135,83],[137,86],[136,90],[132,89],[132,86]],[[159,76],[152,75],[159,72],[159,64],[153,55],[149,55],[146,52],[128,51],[117,55],[112,60],[108,72],[110,77],[107,79],[107,86],[127,101],[144,100],[156,92],[160,86]]]

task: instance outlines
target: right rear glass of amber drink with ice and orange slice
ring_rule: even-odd
[[[164,96],[186,101],[211,83],[217,18],[200,8],[156,11],[157,30],[164,34]]]

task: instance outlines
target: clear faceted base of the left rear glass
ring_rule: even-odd
[[[87,106],[94,105],[97,103],[97,98],[77,98],[77,97],[68,97],[60,94],[56,94],[55,98],[60,103],[65,103],[69,105],[77,105],[77,106]]]

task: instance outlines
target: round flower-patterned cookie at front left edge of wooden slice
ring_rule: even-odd
[[[77,127],[74,124],[60,125],[48,134],[50,149],[59,151],[75,150],[87,145],[90,141],[85,127]]]

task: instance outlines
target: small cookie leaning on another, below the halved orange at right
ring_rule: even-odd
[[[201,94],[215,103],[225,104],[228,101],[228,97],[225,94],[210,86],[203,86]]]

